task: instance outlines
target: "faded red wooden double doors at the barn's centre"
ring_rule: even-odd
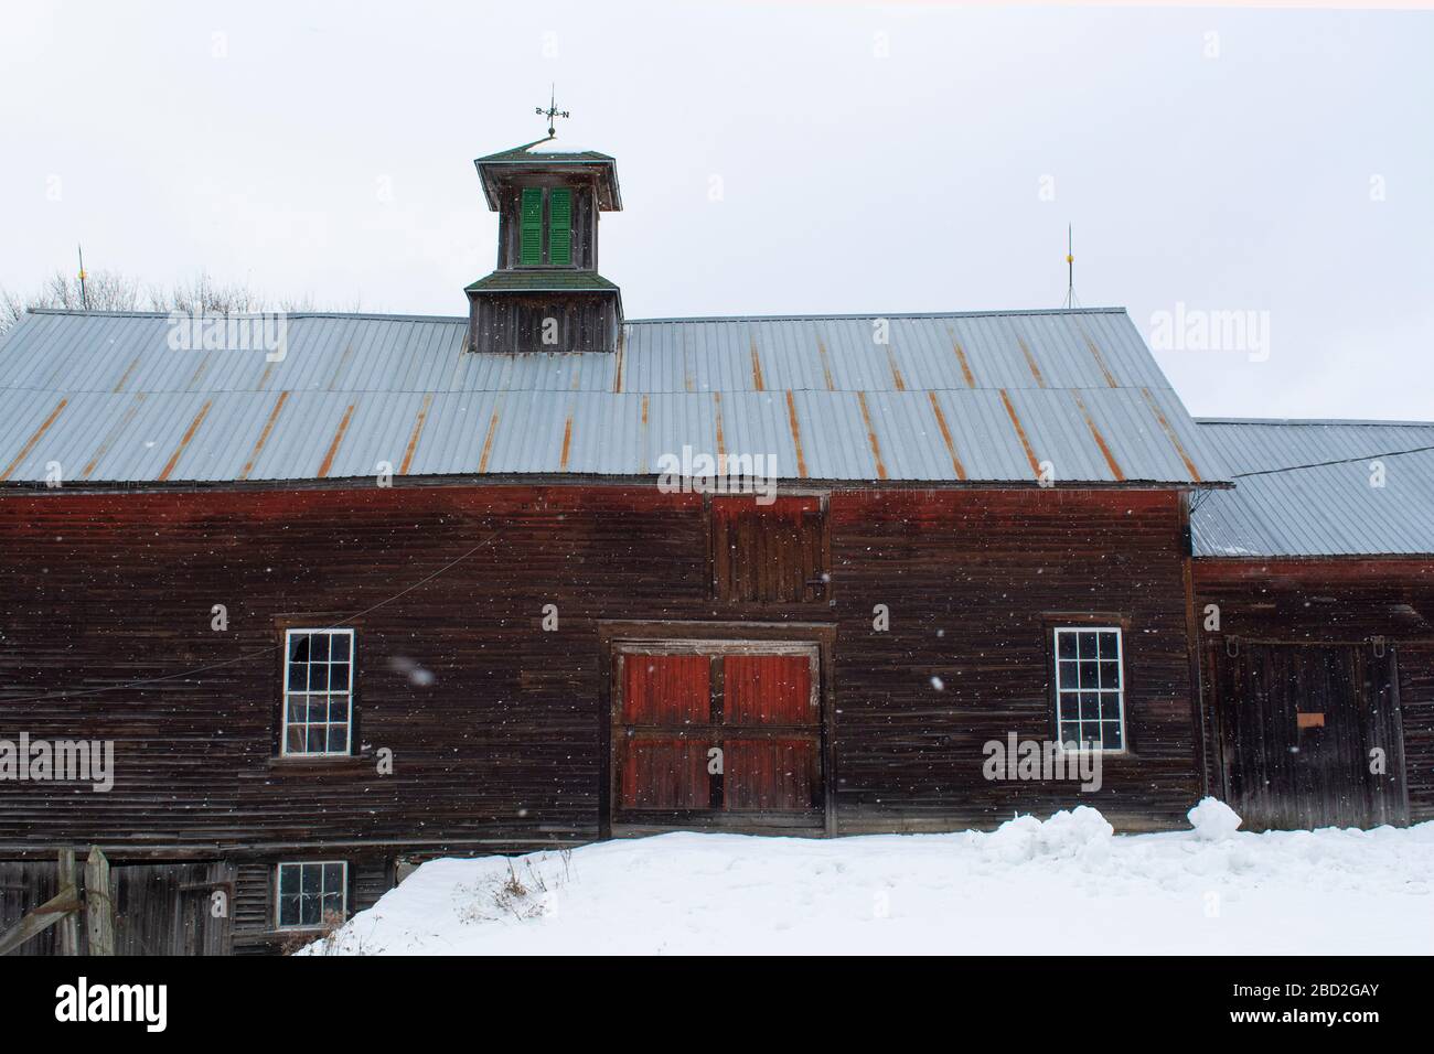
[[[614,825],[820,825],[815,647],[627,645],[614,681]]]

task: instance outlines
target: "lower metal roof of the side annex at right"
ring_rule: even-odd
[[[1235,489],[1199,499],[1196,556],[1434,555],[1434,423],[1200,420],[1199,432]]]

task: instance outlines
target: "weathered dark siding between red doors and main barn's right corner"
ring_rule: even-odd
[[[832,511],[842,830],[1076,804],[1183,826],[1200,780],[1174,495],[868,492]],[[889,632],[872,630],[876,604]],[[1129,754],[1106,757],[1097,793],[987,782],[984,743],[1055,737],[1050,630],[1088,615],[1124,627]]]

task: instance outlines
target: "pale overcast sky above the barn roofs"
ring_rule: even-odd
[[[618,159],[631,318],[1255,311],[1203,416],[1434,419],[1434,14],[823,3],[7,3],[0,287],[206,270],[462,314],[472,159]],[[720,191],[720,194],[717,194]],[[716,198],[716,199],[714,199]]]

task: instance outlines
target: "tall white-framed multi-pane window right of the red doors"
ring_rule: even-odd
[[[1055,630],[1055,728],[1067,750],[1126,749],[1126,670],[1119,627]]]

